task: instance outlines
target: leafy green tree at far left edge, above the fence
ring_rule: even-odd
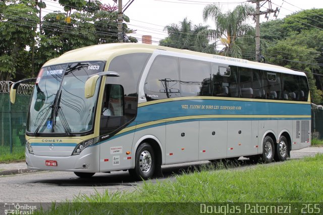
[[[27,46],[31,45],[39,22],[35,8],[26,4],[3,3],[0,6],[0,81],[15,77],[19,68],[26,71],[30,59],[24,62],[27,65],[19,63],[25,59]]]

